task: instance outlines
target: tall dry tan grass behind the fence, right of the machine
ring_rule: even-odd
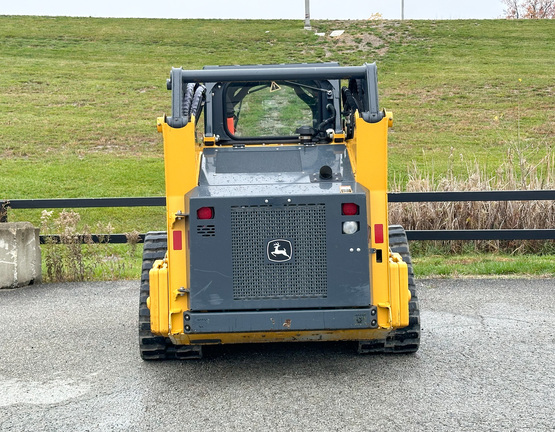
[[[430,191],[492,191],[492,190],[541,190],[555,189],[555,151],[537,163],[530,163],[526,155],[533,149],[512,145],[507,158],[494,175],[475,161],[468,165],[467,175],[453,175],[450,169],[443,178],[423,174],[416,166],[409,169],[406,192]],[[453,151],[450,156],[453,158]],[[399,184],[392,190],[400,192]],[[460,229],[553,229],[555,227],[555,201],[475,201],[475,202],[424,202],[391,203],[389,220],[407,230],[460,230]],[[555,242],[546,241],[449,241],[425,242],[415,245],[417,250],[437,248],[443,252],[462,252],[472,248],[479,251],[551,252]]]

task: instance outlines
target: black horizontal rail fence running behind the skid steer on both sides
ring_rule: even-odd
[[[476,192],[392,192],[389,202],[453,202],[453,201],[555,201],[555,190],[476,191]],[[7,222],[7,209],[160,207],[165,197],[135,198],[56,198],[16,199],[0,201],[0,222]],[[55,235],[42,235],[41,242]],[[141,240],[144,234],[140,235]],[[485,230],[410,230],[409,240],[555,240],[554,229],[485,229]],[[106,239],[93,235],[92,240]],[[110,234],[109,243],[126,243],[125,234]]]

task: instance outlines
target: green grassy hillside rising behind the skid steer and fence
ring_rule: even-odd
[[[400,187],[413,161],[439,178],[477,160],[493,176],[509,149],[529,163],[553,153],[553,20],[312,24],[326,36],[301,21],[1,16],[0,198],[163,195],[155,121],[172,66],[376,61]],[[163,209],[80,213],[117,232],[164,223]]]

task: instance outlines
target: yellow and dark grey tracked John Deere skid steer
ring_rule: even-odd
[[[211,344],[356,341],[410,353],[420,318],[405,232],[388,226],[375,64],[174,68],[167,231],[145,238],[145,360]]]

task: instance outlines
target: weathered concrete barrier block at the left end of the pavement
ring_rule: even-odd
[[[0,223],[0,288],[41,280],[39,229],[29,222]]]

